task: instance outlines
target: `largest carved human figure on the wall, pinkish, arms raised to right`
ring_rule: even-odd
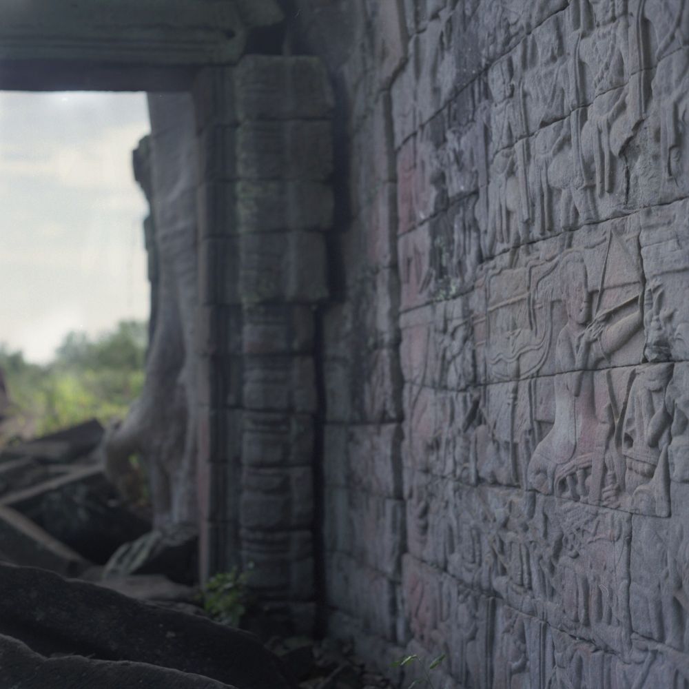
[[[588,272],[579,251],[570,251],[559,266],[567,322],[557,338],[555,359],[555,422],[539,442],[528,465],[528,486],[579,500],[588,491],[599,420],[596,415],[594,370],[626,344],[641,327],[641,311],[617,321],[615,309],[591,316]],[[611,322],[608,322],[611,321]]]

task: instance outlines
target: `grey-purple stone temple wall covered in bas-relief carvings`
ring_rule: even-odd
[[[331,633],[453,687],[688,687],[689,3],[297,5],[349,152]]]

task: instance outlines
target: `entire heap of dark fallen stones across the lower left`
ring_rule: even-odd
[[[216,624],[198,533],[152,529],[105,478],[98,422],[0,452],[0,688],[373,689],[334,641]],[[63,577],[78,577],[65,579]]]

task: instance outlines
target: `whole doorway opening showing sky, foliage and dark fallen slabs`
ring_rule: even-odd
[[[99,453],[143,385],[155,267],[132,150],[149,131],[145,94],[0,92],[0,530],[17,564],[76,574],[150,528],[143,476],[127,504]]]

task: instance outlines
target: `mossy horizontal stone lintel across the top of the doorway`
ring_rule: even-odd
[[[0,88],[156,90],[149,70],[234,64],[251,29],[281,19],[273,0],[8,0],[0,9]],[[165,88],[188,88],[158,76]]]

